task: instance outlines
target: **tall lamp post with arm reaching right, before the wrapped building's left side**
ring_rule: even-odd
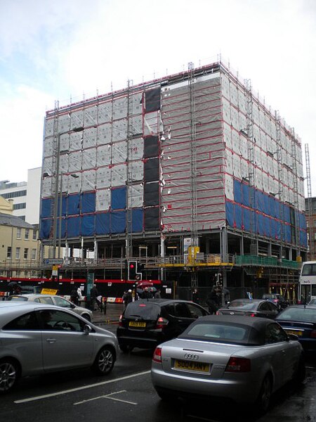
[[[58,181],[59,181],[59,165],[60,165],[60,136],[65,134],[72,134],[74,132],[82,132],[84,127],[74,127],[71,130],[66,132],[60,132],[57,138],[57,150],[56,150],[56,168],[55,168],[55,192],[54,192],[54,212],[53,212],[53,258],[56,257],[56,247],[57,247],[57,219],[58,219]],[[62,181],[60,183],[60,201],[62,200]],[[61,207],[61,205],[60,205]],[[60,212],[61,213],[61,212]],[[61,215],[60,215],[60,225],[61,225]],[[59,233],[61,236],[61,227],[59,227]],[[58,258],[60,257],[60,237],[58,240]]]

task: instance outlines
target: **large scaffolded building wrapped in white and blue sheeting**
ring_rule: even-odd
[[[179,291],[218,274],[282,291],[304,210],[300,139],[221,61],[46,113],[40,237],[72,276],[127,279],[137,260]]]

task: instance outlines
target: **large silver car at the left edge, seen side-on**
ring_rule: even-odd
[[[0,393],[20,377],[91,367],[112,371],[117,337],[74,312],[36,302],[0,302]]]

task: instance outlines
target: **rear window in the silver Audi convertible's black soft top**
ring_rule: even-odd
[[[258,344],[258,340],[251,340],[251,327],[223,323],[192,324],[179,338],[242,345]]]

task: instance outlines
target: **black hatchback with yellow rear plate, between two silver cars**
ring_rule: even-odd
[[[187,300],[144,299],[129,303],[119,318],[119,347],[154,349],[183,333],[199,316],[209,315],[203,307]]]

